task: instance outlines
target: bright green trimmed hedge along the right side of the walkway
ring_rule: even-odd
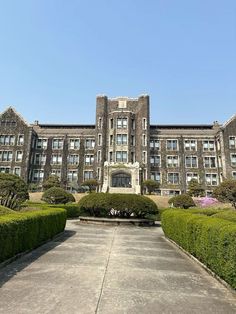
[[[236,224],[185,210],[162,214],[167,237],[198,258],[236,289]]]

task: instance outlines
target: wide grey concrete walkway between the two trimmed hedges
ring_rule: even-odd
[[[83,225],[0,271],[0,313],[236,313],[236,299],[161,228]]]

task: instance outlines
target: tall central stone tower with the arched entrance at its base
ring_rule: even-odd
[[[141,192],[149,173],[149,96],[98,96],[95,172],[102,192]]]

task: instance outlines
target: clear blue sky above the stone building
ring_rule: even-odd
[[[94,123],[96,95],[149,94],[151,122],[236,110],[235,0],[0,0],[0,111]]]

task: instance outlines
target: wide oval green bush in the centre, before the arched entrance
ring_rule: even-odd
[[[95,217],[143,218],[158,213],[156,204],[148,197],[136,194],[94,193],[79,201],[84,215]]]

